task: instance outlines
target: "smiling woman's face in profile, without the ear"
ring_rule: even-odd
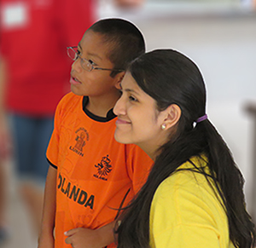
[[[114,137],[120,143],[137,144],[148,153],[163,144],[166,133],[161,130],[165,112],[159,112],[156,101],[141,89],[131,73],[121,83],[122,95],[113,112],[118,116]]]

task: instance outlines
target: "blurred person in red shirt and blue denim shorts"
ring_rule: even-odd
[[[0,2],[0,149],[13,141],[19,194],[35,228],[48,170],[44,151],[55,107],[69,91],[66,47],[79,42],[96,19],[94,10],[92,0]]]

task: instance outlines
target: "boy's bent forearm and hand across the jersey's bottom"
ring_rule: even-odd
[[[75,248],[102,248],[112,244],[114,239],[113,228],[116,222],[110,222],[102,228],[75,228],[65,233],[67,244]]]

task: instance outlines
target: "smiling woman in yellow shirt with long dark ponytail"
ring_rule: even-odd
[[[120,217],[119,248],[255,246],[243,178],[206,114],[201,72],[172,49],[131,63],[121,84],[115,139],[154,159]]]

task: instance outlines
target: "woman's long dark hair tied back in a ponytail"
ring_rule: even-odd
[[[157,187],[181,164],[201,154],[207,156],[210,174],[203,167],[200,171],[209,183],[212,178],[217,189],[228,216],[231,241],[236,247],[255,247],[254,224],[245,208],[244,180],[229,148],[208,119],[193,126],[206,113],[206,89],[198,67],[175,50],[160,49],[133,61],[129,72],[160,111],[174,103],[182,115],[176,134],[160,147],[148,181],[120,217],[118,247],[149,247],[149,211]]]

